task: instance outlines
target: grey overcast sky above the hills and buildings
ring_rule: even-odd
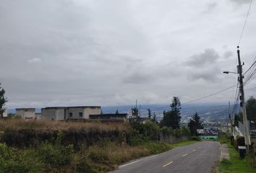
[[[168,104],[236,84],[249,0],[0,0],[7,107]],[[256,56],[256,2],[240,43]],[[256,80],[245,88],[256,86]],[[200,102],[234,102],[235,89]],[[247,97],[256,90],[248,90]]]

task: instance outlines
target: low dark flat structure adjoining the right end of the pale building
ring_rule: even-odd
[[[127,113],[89,115],[90,120],[103,121],[124,121],[127,120]]]

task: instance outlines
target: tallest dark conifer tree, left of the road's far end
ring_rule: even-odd
[[[171,127],[172,129],[179,128],[179,123],[181,121],[182,109],[179,97],[174,97],[172,100],[171,110],[163,111],[163,120],[161,120],[161,126]]]

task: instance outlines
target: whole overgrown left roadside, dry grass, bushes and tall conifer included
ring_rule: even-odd
[[[108,172],[132,159],[197,142],[184,141],[190,131],[179,126],[179,98],[170,106],[160,123],[151,110],[147,120],[141,118],[137,107],[126,123],[22,120],[10,115],[0,120],[0,173]],[[166,143],[169,137],[180,142]]]

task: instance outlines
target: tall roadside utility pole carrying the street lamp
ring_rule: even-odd
[[[244,100],[244,76],[242,75],[242,65],[241,65],[241,60],[240,60],[240,50],[239,46],[237,46],[237,56],[238,56],[238,66],[237,66],[237,73],[239,74],[239,84],[240,84],[240,93],[241,93],[241,104],[240,106],[242,107],[242,113],[243,113],[243,123],[244,123],[244,141],[245,141],[245,146],[247,148],[247,151],[249,151],[249,145],[250,140],[249,140],[249,128],[248,128],[248,123],[247,123],[247,113],[246,113],[246,105],[245,105],[245,100]]]

